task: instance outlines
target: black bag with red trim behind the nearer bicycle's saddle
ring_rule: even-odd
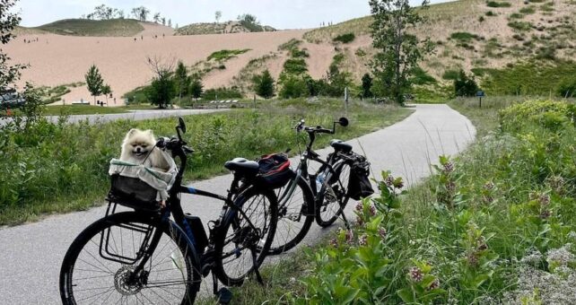
[[[292,178],[290,160],[284,153],[272,153],[262,156],[258,161],[257,179],[264,187],[284,187]]]

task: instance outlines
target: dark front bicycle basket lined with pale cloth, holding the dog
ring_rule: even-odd
[[[155,209],[159,202],[168,199],[168,191],[174,184],[178,168],[168,153],[162,152],[162,156],[170,163],[168,171],[112,159],[109,167],[112,180],[109,200],[135,209]]]

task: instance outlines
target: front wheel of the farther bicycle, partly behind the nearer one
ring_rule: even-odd
[[[293,187],[292,193],[290,187]],[[279,194],[278,224],[268,250],[270,255],[283,253],[298,245],[310,231],[314,221],[314,195],[306,179],[292,179],[286,187],[279,190]]]

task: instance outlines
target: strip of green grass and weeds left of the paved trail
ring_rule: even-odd
[[[225,172],[224,161],[294,147],[293,122],[328,125],[341,117],[341,100],[271,101],[260,109],[186,117],[188,143],[196,149],[187,180],[207,179]],[[338,130],[350,139],[397,122],[411,111],[353,102],[352,125]],[[120,143],[132,127],[173,135],[174,118],[118,120],[66,125],[39,120],[30,126],[4,126],[0,134],[0,224],[17,224],[47,213],[65,213],[101,205],[109,188],[109,160],[118,157]],[[329,137],[319,138],[318,147]],[[224,190],[223,190],[224,192]]]

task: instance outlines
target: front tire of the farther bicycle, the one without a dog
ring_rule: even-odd
[[[291,180],[286,187],[290,187],[292,181],[293,180]],[[298,193],[298,189],[300,189],[300,193]],[[301,228],[299,230],[298,227],[295,226],[292,230],[292,224],[290,222],[294,222],[294,220],[290,219],[290,216],[286,217],[287,213],[289,213],[288,208],[285,206],[283,207],[283,203],[278,203],[278,205],[280,205],[278,208],[278,223],[276,224],[275,237],[270,249],[268,250],[268,255],[277,255],[296,247],[296,245],[304,239],[306,234],[308,234],[308,231],[310,231],[310,226],[312,225],[312,222],[314,222],[315,213],[314,194],[312,193],[306,179],[302,177],[298,179],[292,197],[298,195],[302,196],[301,204],[296,203],[295,205],[292,205],[290,210],[292,210],[292,213],[298,213],[295,217],[298,217],[298,222],[301,222]],[[288,198],[289,203],[292,202],[292,197]],[[284,221],[286,221],[285,225]],[[284,231],[287,233],[284,234]],[[283,236],[285,238],[283,238]]]

